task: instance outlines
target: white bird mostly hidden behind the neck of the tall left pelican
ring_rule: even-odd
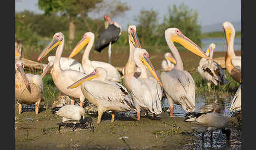
[[[52,70],[54,59],[55,59],[55,56],[48,57],[48,65],[43,68],[43,72],[48,66],[50,66],[51,70]],[[61,69],[62,70],[75,70],[75,71],[84,73],[84,69],[83,69],[81,63],[79,63],[78,61],[76,61],[73,58],[61,57]],[[47,73],[47,72],[45,72],[45,73]],[[45,74],[43,74],[43,75],[45,75]],[[43,77],[44,76],[42,76],[42,78]]]

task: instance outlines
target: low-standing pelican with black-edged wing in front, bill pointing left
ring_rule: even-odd
[[[136,111],[126,88],[118,82],[107,81],[106,78],[107,71],[97,67],[90,74],[67,87],[82,89],[88,101],[97,106],[97,124],[101,123],[101,116],[107,110],[112,111],[111,122],[114,122],[115,111]],[[79,85],[81,88],[77,88]]]

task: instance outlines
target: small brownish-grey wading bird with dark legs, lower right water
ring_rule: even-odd
[[[221,130],[221,133],[226,135],[227,141],[230,140],[231,131],[227,127],[229,120],[227,117],[224,117],[220,112],[218,106],[214,110],[211,110],[212,104],[205,105],[200,109],[200,112],[190,112],[185,116],[185,122],[193,122],[199,123],[203,126],[208,127],[206,131],[202,132],[202,142],[204,142],[203,137],[205,132],[211,132],[211,141],[212,141],[212,132],[215,130]],[[214,103],[213,103],[214,105]],[[205,110],[205,108],[209,107],[210,110]]]

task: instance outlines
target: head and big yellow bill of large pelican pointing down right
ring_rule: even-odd
[[[165,30],[165,38],[170,39],[172,42],[178,42],[186,49],[190,50],[191,52],[195,53],[196,55],[210,59],[203,50],[196,45],[193,41],[189,38],[184,36],[182,32],[178,28],[168,28]]]

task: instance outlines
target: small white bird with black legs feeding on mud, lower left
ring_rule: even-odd
[[[93,130],[93,123],[91,117],[84,117],[85,110],[78,105],[64,105],[62,107],[56,107],[52,109],[53,114],[63,117],[62,123],[65,121],[74,121],[73,131],[75,131],[76,121],[80,121],[80,123],[85,124],[88,122],[89,127]],[[58,126],[58,131],[61,130],[61,125]]]

